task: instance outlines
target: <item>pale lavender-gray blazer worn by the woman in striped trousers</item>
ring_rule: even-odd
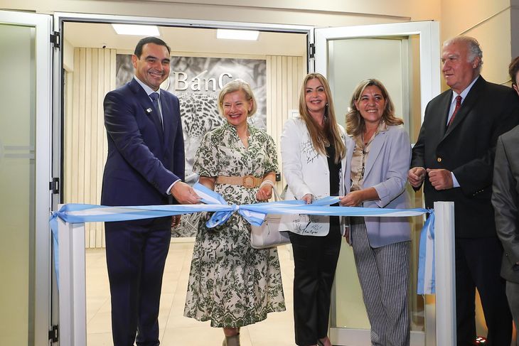
[[[407,209],[409,196],[405,192],[407,171],[411,163],[409,135],[402,126],[389,126],[380,131],[370,144],[368,161],[365,163],[364,188],[377,190],[380,200],[364,202],[364,207]],[[351,158],[355,140],[346,139],[346,193],[351,188]],[[372,247],[405,242],[411,239],[408,217],[365,217],[368,239]]]

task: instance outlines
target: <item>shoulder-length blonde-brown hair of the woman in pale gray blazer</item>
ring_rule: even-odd
[[[355,101],[360,101],[360,97],[362,96],[364,90],[367,87],[373,86],[380,89],[380,92],[382,92],[382,97],[385,99],[385,109],[382,113],[382,119],[380,120],[385,121],[388,126],[404,124],[404,121],[401,118],[395,117],[395,105],[391,101],[391,97],[389,96],[385,86],[382,84],[382,82],[380,82],[380,80],[370,78],[358,83],[357,87],[355,87],[353,95],[351,95],[350,110],[348,113],[346,113],[346,133],[351,136],[359,136],[365,130],[364,118],[360,115],[360,111],[355,106]]]

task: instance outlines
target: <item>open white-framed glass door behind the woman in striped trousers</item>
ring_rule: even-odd
[[[404,119],[411,141],[416,141],[424,108],[440,91],[438,23],[320,28],[314,32],[315,70],[328,78],[339,124],[346,126],[345,115],[358,82],[376,78],[387,87],[396,114]],[[416,199],[415,195],[410,195],[412,206],[422,207],[421,195]],[[434,345],[434,301],[416,294],[422,220],[414,217],[411,222],[411,345],[423,346],[426,340],[427,345]],[[333,288],[330,334],[333,345],[370,345],[370,324],[353,252],[346,243],[341,249]]]

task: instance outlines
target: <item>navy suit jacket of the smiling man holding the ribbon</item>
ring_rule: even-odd
[[[101,204],[173,202],[166,190],[184,179],[185,165],[177,97],[161,90],[164,131],[151,99],[135,79],[109,92],[104,107],[108,157]]]

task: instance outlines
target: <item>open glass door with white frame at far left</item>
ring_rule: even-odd
[[[0,345],[49,345],[50,18],[0,11]]]

